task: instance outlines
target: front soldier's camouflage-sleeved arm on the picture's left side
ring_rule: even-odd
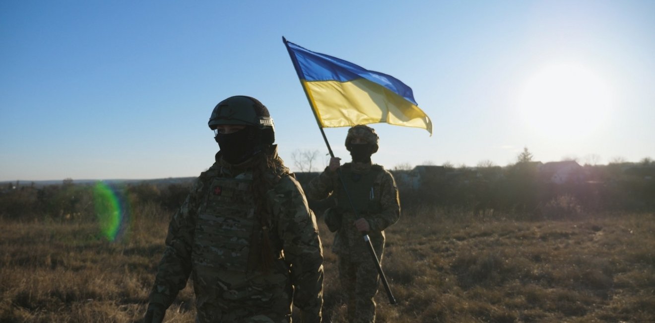
[[[197,179],[189,196],[168,225],[166,249],[157,267],[155,286],[149,296],[149,303],[160,305],[164,309],[168,309],[173,303],[178,292],[186,286],[191,274],[195,213],[201,188],[202,183]]]

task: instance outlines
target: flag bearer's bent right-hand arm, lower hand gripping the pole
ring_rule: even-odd
[[[364,218],[369,223],[371,231],[382,231],[400,218],[400,199],[398,186],[393,175],[388,171],[381,173],[380,181],[380,213],[367,215]]]

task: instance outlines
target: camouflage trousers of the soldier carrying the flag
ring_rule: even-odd
[[[382,254],[378,257],[382,262]],[[354,257],[353,255],[339,256],[339,281],[341,290],[346,292],[348,305],[348,322],[373,323],[375,322],[375,301],[380,284],[377,267],[369,255]]]

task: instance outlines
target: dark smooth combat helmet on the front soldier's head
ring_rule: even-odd
[[[275,142],[275,127],[269,109],[253,97],[236,95],[222,100],[214,107],[208,125],[214,131],[218,125],[250,125],[258,130],[261,143]]]

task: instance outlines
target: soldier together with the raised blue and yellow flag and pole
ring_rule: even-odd
[[[389,303],[396,304],[380,259],[383,230],[398,221],[400,203],[391,173],[371,163],[379,139],[365,124],[417,127],[432,135],[432,121],[419,108],[412,89],[396,77],[310,51],[284,37],[282,41],[332,157],[307,193],[319,199],[329,194],[337,197],[337,207],[326,213],[326,222],[337,232],[333,249],[339,255],[342,287],[348,292],[348,318],[350,322],[374,322],[378,279]],[[323,128],[350,126],[346,148],[352,163],[340,166]],[[362,255],[365,249],[370,257]]]

